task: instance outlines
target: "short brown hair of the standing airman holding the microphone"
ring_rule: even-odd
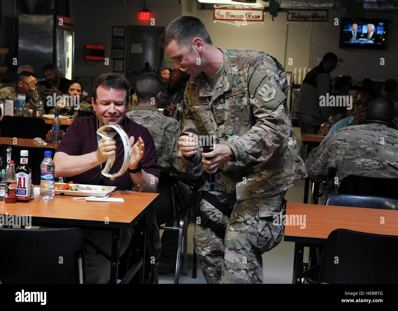
[[[193,16],[180,16],[174,19],[160,36],[159,45],[164,48],[173,39],[179,46],[192,49],[192,41],[199,37],[207,44],[213,44],[202,21]]]

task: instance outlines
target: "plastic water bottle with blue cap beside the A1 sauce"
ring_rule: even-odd
[[[44,151],[44,160],[40,164],[40,199],[52,200],[55,195],[55,163],[51,151]]]

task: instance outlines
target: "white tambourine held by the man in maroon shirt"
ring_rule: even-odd
[[[103,168],[103,170],[101,172],[101,174],[103,176],[108,177],[111,180],[114,180],[116,177],[119,177],[124,172],[126,172],[127,168],[129,167],[130,158],[131,158],[131,144],[130,144],[129,137],[127,136],[126,132],[123,131],[123,129],[119,125],[104,125],[104,126],[101,126],[97,130],[97,134],[100,135],[101,137],[108,136],[106,133],[104,133],[104,131],[107,128],[109,128],[109,127],[115,129],[115,131],[117,131],[117,133],[119,133],[120,139],[123,142],[123,147],[124,147],[124,150],[125,150],[125,156],[124,156],[124,160],[123,160],[123,165],[120,168],[119,172],[113,173],[113,174],[109,174],[109,170],[111,169],[111,167],[113,165],[113,162],[115,162],[116,153],[107,158],[105,167]]]

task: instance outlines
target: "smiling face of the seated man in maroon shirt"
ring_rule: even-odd
[[[97,89],[97,100],[94,102],[93,98],[92,102],[100,127],[106,122],[123,126],[122,122],[129,108],[126,103],[125,89],[105,89],[100,85]]]

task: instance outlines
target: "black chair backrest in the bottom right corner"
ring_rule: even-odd
[[[398,280],[398,236],[336,229],[320,265],[320,283],[391,284]]]

